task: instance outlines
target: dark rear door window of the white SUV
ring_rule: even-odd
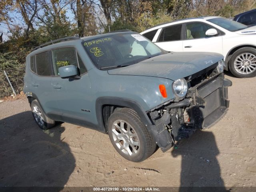
[[[181,27],[182,25],[175,25],[175,26],[163,28],[160,34],[160,37],[158,39],[158,42],[180,40]]]

